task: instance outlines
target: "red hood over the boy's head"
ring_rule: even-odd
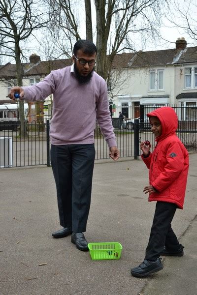
[[[162,107],[147,114],[147,117],[157,117],[162,124],[162,135],[156,138],[159,141],[166,136],[172,135],[178,128],[178,117],[174,109],[170,107]]]

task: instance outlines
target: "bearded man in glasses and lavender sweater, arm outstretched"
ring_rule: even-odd
[[[52,71],[29,87],[13,87],[14,93],[30,101],[44,100],[53,93],[51,120],[51,164],[56,182],[61,230],[55,238],[71,235],[81,251],[88,250],[86,231],[91,202],[95,161],[96,119],[113,160],[119,158],[111,122],[105,81],[94,71],[97,48],[89,40],[79,40],[73,48],[73,64]]]

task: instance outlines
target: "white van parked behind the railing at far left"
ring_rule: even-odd
[[[27,118],[28,104],[24,103],[24,115]],[[0,105],[0,131],[13,130],[16,131],[20,124],[18,104]]]

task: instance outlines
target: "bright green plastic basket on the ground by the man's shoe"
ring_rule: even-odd
[[[120,259],[123,249],[118,242],[89,243],[88,248],[93,260]]]

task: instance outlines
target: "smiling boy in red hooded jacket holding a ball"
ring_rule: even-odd
[[[183,256],[183,246],[179,244],[171,228],[176,208],[183,209],[188,169],[188,151],[176,136],[178,118],[170,107],[162,107],[147,114],[157,145],[150,152],[151,145],[140,144],[142,160],[149,169],[149,202],[157,201],[153,225],[144,261],[131,269],[131,274],[144,277],[161,270],[160,255]]]

